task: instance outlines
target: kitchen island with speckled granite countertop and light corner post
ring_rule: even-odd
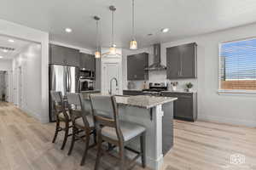
[[[89,94],[84,93],[84,102],[88,105]],[[173,145],[173,101],[177,98],[147,95],[115,97],[121,120],[146,127],[146,164],[147,167],[159,170],[163,164],[163,156]],[[134,139],[130,146],[139,150],[139,139]]]

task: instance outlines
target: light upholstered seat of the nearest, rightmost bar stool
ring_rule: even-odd
[[[119,122],[120,130],[123,133],[125,142],[137,137],[141,133],[146,131],[146,128],[132,122]],[[109,139],[119,140],[116,129],[114,127],[103,127],[102,136],[108,137]]]

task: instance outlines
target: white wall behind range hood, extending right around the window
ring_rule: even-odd
[[[196,80],[178,82],[180,84],[194,82],[195,88],[198,91],[199,119],[256,127],[255,96],[219,95],[217,93],[219,42],[256,37],[255,30],[256,25],[254,24],[161,44],[161,59],[164,65],[166,65],[166,48],[189,42],[196,42],[198,44],[198,78]],[[149,60],[152,61],[152,55],[150,55]],[[126,67],[125,61],[123,64],[123,67]],[[126,77],[126,75],[123,75],[123,77]],[[165,81],[165,79],[165,72],[152,72],[149,74],[149,82],[156,80]],[[124,87],[126,88],[125,81]]]

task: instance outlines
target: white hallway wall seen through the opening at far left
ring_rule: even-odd
[[[15,80],[21,67],[21,109],[40,119],[41,110],[41,45],[32,43],[20,51],[13,61]],[[15,88],[18,89],[18,82]]]

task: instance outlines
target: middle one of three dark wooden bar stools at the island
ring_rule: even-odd
[[[72,154],[75,141],[82,139],[85,143],[85,149],[80,165],[83,166],[88,150],[96,145],[96,130],[93,117],[90,112],[90,105],[86,107],[81,94],[71,93],[67,93],[67,103],[68,111],[73,122],[73,138],[67,155],[69,156]],[[85,133],[84,136],[79,136],[81,131]],[[91,134],[94,135],[94,144],[89,145]]]

